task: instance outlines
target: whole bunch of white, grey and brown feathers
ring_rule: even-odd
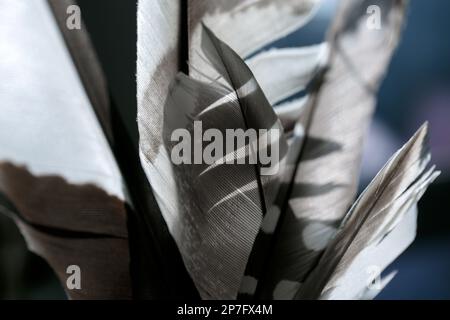
[[[0,211],[63,284],[80,266],[70,298],[371,299],[393,278],[367,270],[415,237],[439,174],[427,125],[354,198],[407,1],[341,0],[324,43],[261,50],[319,2],[140,0],[136,147],[86,30],[65,28],[73,2],[0,1]],[[170,133],[196,120],[283,130],[280,170],[174,165]]]

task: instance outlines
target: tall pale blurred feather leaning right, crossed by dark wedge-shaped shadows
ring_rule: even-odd
[[[405,1],[372,1],[384,18],[381,30],[370,30],[366,4],[342,1],[331,26],[329,67],[300,122],[306,138],[259,281],[263,297],[282,280],[305,280],[355,196],[363,137],[405,14]]]

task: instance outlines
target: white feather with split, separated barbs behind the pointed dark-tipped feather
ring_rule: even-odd
[[[227,82],[226,79],[223,79],[224,72],[219,72],[217,67],[214,68],[208,62],[208,58],[199,50],[201,23],[210,25],[213,31],[220,34],[226,40],[225,42],[235,49],[239,55],[246,57],[271,41],[306,24],[314,15],[318,3],[319,1],[283,1],[281,4],[279,1],[276,4],[271,1],[248,1],[245,3],[242,1],[239,3],[227,1],[226,4],[225,2],[222,4],[221,2],[208,1],[191,2],[188,7],[190,76],[200,80],[217,81],[225,86]],[[291,14],[287,14],[287,11],[295,15],[295,19],[291,20]],[[271,19],[273,19],[272,22],[270,22]],[[274,21],[276,22],[274,23]],[[258,32],[253,32],[248,24],[258,25]],[[267,29],[267,31],[260,32],[261,28]],[[255,35],[260,35],[260,37]],[[273,88],[266,92],[269,102],[276,103],[303,90],[309,84],[310,80],[323,66],[326,49],[326,45],[319,45],[309,48],[274,50],[257,54],[248,62],[250,69],[257,73],[256,79],[261,82],[263,89]],[[300,58],[307,61],[300,63]],[[293,63],[296,59],[299,59],[298,62]],[[284,70],[276,73],[279,75],[278,77],[273,77],[273,73],[270,76],[270,71],[274,70],[273,64],[275,63],[277,63],[279,69]],[[286,72],[293,67],[295,67],[295,70]],[[307,100],[302,100],[302,102],[305,101]],[[294,117],[299,116],[304,109],[302,108],[303,103],[296,102],[290,104],[289,108],[283,106],[285,108],[280,108],[277,111],[277,114],[280,112],[280,119],[286,125],[285,128],[290,130],[293,130],[295,121],[298,119]],[[294,139],[291,139],[288,151],[292,156],[287,156],[286,159],[281,161],[279,173],[273,179],[278,183],[273,183],[270,186],[272,190],[270,198],[267,196],[265,199],[268,211],[265,219],[267,220],[271,219],[272,214],[277,214],[276,207],[272,207],[272,203],[278,193],[279,182],[292,174],[292,170],[295,168],[293,162],[302,138],[302,136],[297,135],[298,133],[299,130],[296,130],[290,134],[294,137]]]

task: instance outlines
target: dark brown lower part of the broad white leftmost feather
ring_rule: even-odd
[[[0,190],[11,202],[0,212],[14,219],[28,248],[49,263],[71,299],[131,298],[123,200],[93,184],[33,175],[10,163],[0,164]],[[79,290],[66,285],[71,265],[80,267]]]

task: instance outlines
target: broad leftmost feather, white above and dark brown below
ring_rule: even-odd
[[[1,210],[63,284],[80,266],[71,298],[130,298],[127,193],[52,13],[3,0],[0,17]]]

